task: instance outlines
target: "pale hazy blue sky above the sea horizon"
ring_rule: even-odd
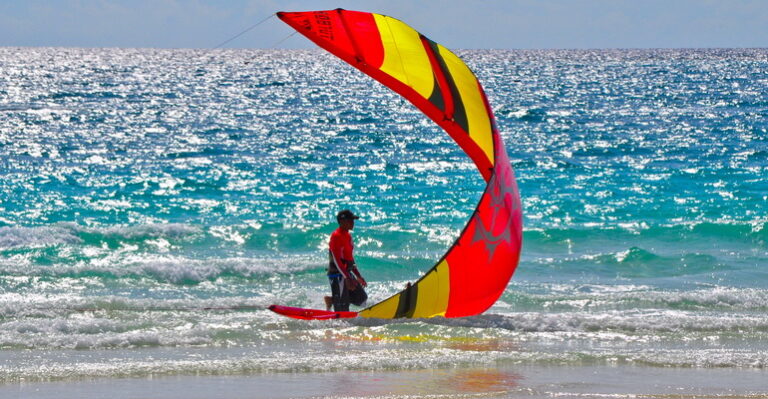
[[[0,46],[312,48],[269,16],[339,7],[455,49],[768,47],[768,0],[0,0]]]

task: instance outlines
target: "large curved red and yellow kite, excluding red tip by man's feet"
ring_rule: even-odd
[[[399,93],[442,127],[488,183],[459,238],[421,279],[362,317],[462,317],[484,312],[517,267],[522,209],[488,99],[467,65],[403,22],[342,9],[279,12],[315,44]]]

